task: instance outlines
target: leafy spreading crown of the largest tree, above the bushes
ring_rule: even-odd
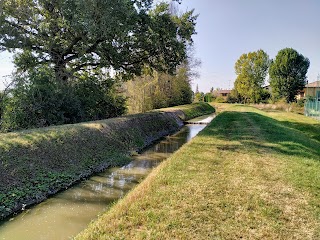
[[[148,65],[172,72],[195,33],[193,11],[180,17],[152,0],[8,0],[0,6],[0,50],[22,70],[47,65],[56,80],[95,68],[136,74]]]

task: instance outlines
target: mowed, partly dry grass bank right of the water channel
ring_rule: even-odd
[[[77,239],[320,239],[320,124],[235,105]]]

